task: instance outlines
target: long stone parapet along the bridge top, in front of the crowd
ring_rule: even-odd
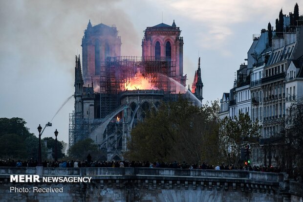
[[[35,167],[0,167],[0,176],[35,175]],[[283,173],[265,173],[245,170],[201,170],[171,168],[43,168],[43,175],[51,176],[159,176],[159,177],[194,177],[194,178],[225,178],[239,180],[257,180],[282,182]]]

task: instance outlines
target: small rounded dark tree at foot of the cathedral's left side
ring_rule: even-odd
[[[78,141],[69,148],[67,153],[69,157],[80,160],[86,159],[88,154],[95,159],[99,159],[98,157],[102,155],[102,152],[98,150],[98,145],[90,138]]]

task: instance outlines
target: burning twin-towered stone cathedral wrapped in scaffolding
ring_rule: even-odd
[[[89,21],[76,56],[75,110],[69,114],[69,146],[87,137],[108,160],[121,159],[130,132],[152,107],[175,101],[179,92],[202,102],[200,59],[192,90],[183,75],[183,37],[173,21],[147,27],[142,56],[121,56],[117,28]],[[81,66],[82,64],[82,66]],[[191,92],[190,92],[191,91]]]

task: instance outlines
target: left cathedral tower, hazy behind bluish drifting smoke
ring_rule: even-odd
[[[121,38],[117,28],[112,25],[92,26],[90,21],[82,38],[83,79],[88,86],[93,78],[94,84],[100,82],[100,71],[107,57],[120,56]]]

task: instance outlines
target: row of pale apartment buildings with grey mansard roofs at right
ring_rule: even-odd
[[[252,165],[281,166],[279,135],[292,103],[302,101],[303,27],[290,27],[288,18],[284,16],[283,33],[272,32],[271,43],[268,30],[262,29],[260,35],[253,35],[246,68],[250,82],[239,87],[244,78],[240,66],[237,85],[229,93],[228,116],[232,118],[238,112],[248,111],[251,121],[259,123],[262,128],[259,143],[250,144]],[[227,97],[226,93],[223,97]],[[226,106],[226,102],[221,99],[221,106]],[[221,108],[220,117],[227,116],[226,111]]]

